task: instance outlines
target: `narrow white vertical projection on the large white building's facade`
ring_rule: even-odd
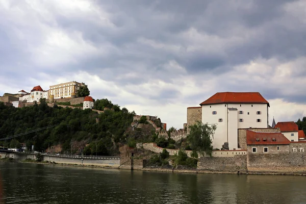
[[[238,149],[238,111],[228,110],[228,148]]]

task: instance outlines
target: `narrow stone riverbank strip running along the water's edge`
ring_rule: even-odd
[[[43,165],[56,165],[56,166],[71,166],[71,167],[85,167],[85,168],[104,168],[104,169],[120,169],[113,166],[100,166],[100,165],[86,165],[86,164],[72,164],[72,163],[55,163],[55,162],[36,162],[36,161],[24,161],[24,160],[4,160],[0,162],[14,162],[14,163],[31,163],[31,164],[43,164]],[[303,175],[306,176],[306,172],[276,172],[276,171],[239,171],[239,172],[222,172],[212,170],[196,170],[196,169],[170,169],[170,168],[143,168],[132,169],[134,171],[155,171],[155,172],[168,172],[168,173],[205,173],[205,174],[250,174],[250,175]]]

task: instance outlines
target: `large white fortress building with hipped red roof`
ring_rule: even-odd
[[[238,129],[268,128],[268,101],[258,92],[216,93],[201,104],[202,123],[215,124],[213,147],[238,149]]]

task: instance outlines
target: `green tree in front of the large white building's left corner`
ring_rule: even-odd
[[[212,156],[212,138],[214,137],[216,129],[216,125],[208,125],[208,123],[203,124],[200,121],[190,125],[187,141],[191,149],[198,151],[201,155],[205,152],[207,155]]]

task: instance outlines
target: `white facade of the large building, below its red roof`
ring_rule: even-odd
[[[268,127],[268,104],[202,105],[202,123],[217,125],[214,148],[220,149],[228,142],[231,150],[238,149],[238,129]]]

